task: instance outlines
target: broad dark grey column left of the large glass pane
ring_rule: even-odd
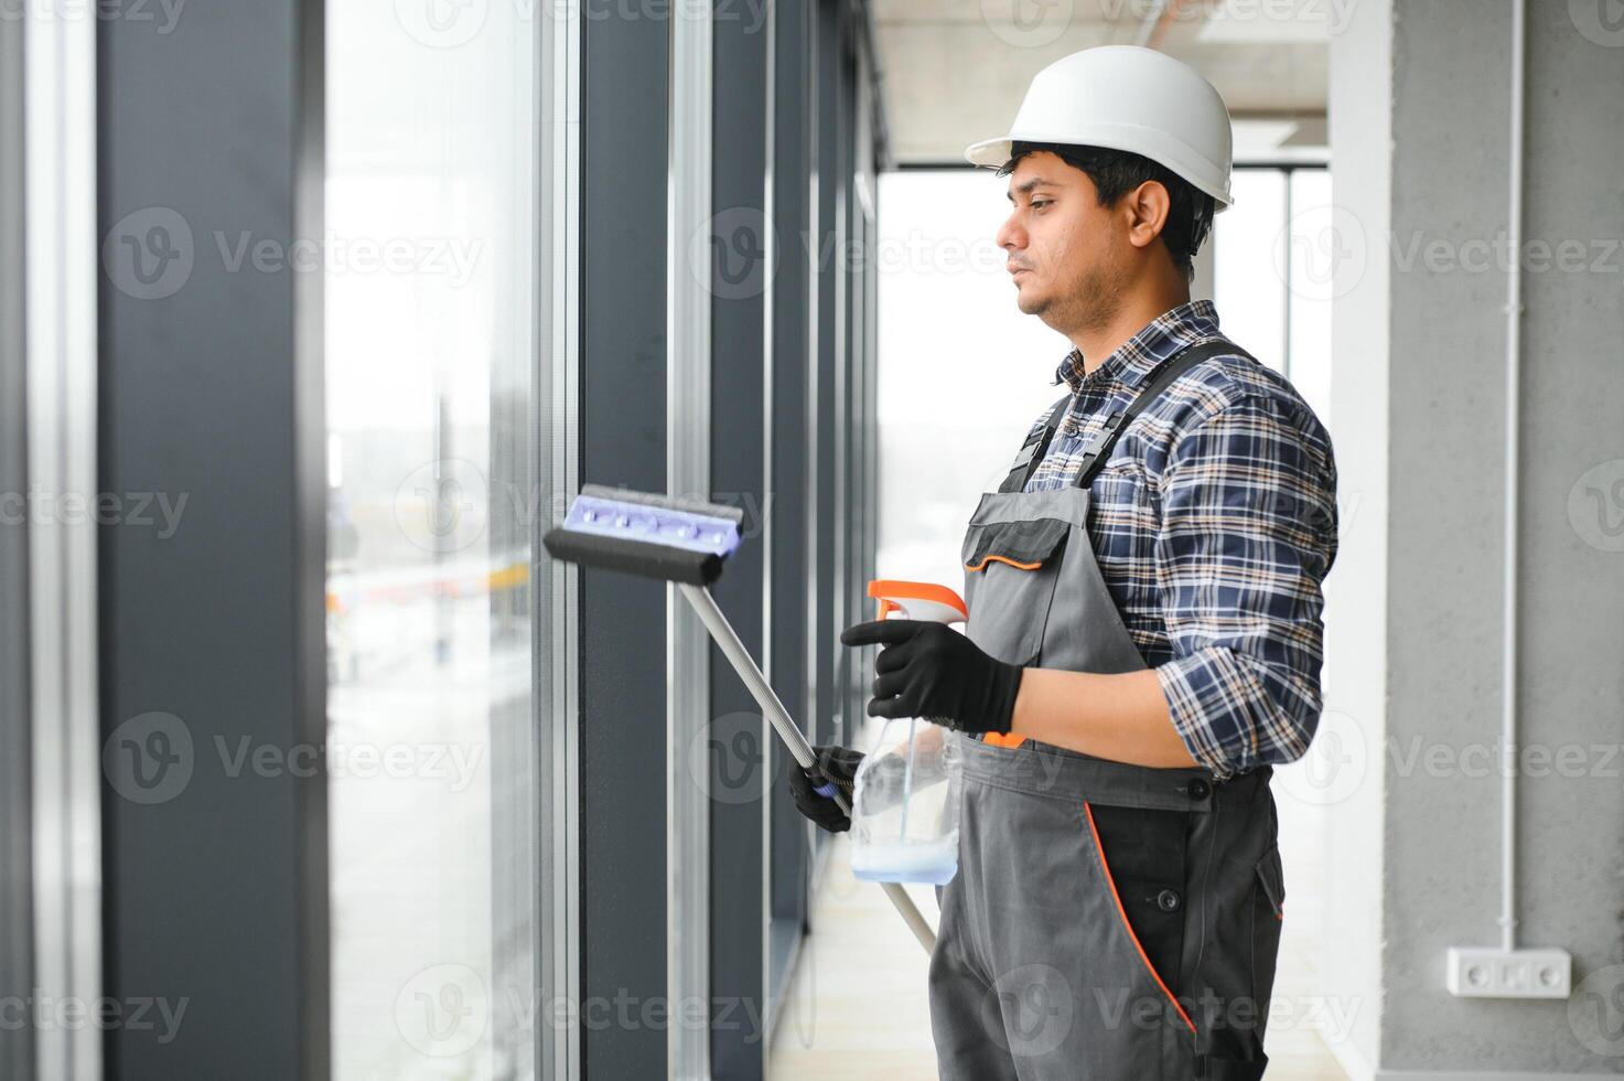
[[[185,497],[172,535],[101,533],[104,735],[135,725],[104,788],[106,992],[187,1008],[169,1042],[110,1031],[110,1078],[325,1074],[322,782],[232,775],[216,743],[287,753],[325,725],[322,554],[300,549],[322,536],[323,478],[300,475],[297,439],[320,441],[300,416],[320,374],[296,341],[312,283],[216,245],[320,228],[299,187],[320,21],[320,3],[229,0],[167,34],[97,29],[99,488]]]

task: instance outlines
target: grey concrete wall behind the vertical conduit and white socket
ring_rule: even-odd
[[[1587,28],[1587,7],[1595,16],[1595,5],[1531,3],[1527,24],[1523,250],[1533,265],[1523,275],[1517,566],[1522,745],[1579,748],[1569,775],[1546,767],[1520,782],[1520,944],[1572,951],[1575,983],[1596,974],[1574,1003],[1580,1018],[1616,1016],[1624,993],[1624,969],[1611,967],[1624,964],[1624,762],[1614,756],[1624,741],[1624,489],[1614,486],[1624,478],[1624,39],[1613,41],[1624,36]],[[1385,653],[1382,694],[1359,697],[1382,769],[1363,798],[1384,793],[1385,818],[1377,1065],[1392,1076],[1618,1074],[1624,1047],[1587,1045],[1569,1003],[1462,1000],[1444,988],[1449,946],[1499,941],[1501,784],[1470,756],[1497,745],[1501,723],[1505,275],[1486,245],[1507,223],[1510,5],[1393,0],[1359,13],[1389,18],[1333,49],[1358,65],[1359,47],[1377,59],[1390,33],[1390,101],[1382,80],[1354,85],[1351,72],[1332,91],[1337,202],[1363,226],[1364,286],[1385,288],[1390,319],[1384,327],[1363,286],[1354,310],[1343,301],[1338,314],[1333,429],[1338,460],[1353,463],[1343,493],[1351,481],[1374,497],[1351,527],[1343,593],[1327,614],[1343,621],[1333,650]],[[1369,130],[1338,143],[1353,132],[1338,106]],[[1372,174],[1384,167],[1385,124],[1384,206]],[[1570,268],[1551,258],[1564,241]],[[1385,343],[1361,340],[1372,333]],[[1354,579],[1374,572],[1379,546],[1377,590],[1367,587],[1379,574]],[[1350,584],[1366,585],[1363,598]],[[1385,647],[1356,642],[1353,629],[1385,634]],[[1335,660],[1343,675],[1350,660]],[[1367,839],[1367,829],[1350,832]],[[1358,966],[1340,969],[1348,987],[1371,990]],[[1587,998],[1592,990],[1603,998]],[[1369,1031],[1361,1035],[1366,1045]]]

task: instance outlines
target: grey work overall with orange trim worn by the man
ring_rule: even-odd
[[[1025,493],[1067,402],[965,535],[968,634],[1009,663],[1145,662],[1086,532],[1116,436],[1228,341],[1186,346],[1112,416],[1075,484]],[[1224,782],[1033,740],[952,736],[958,875],[937,889],[931,1027],[944,1081],[1260,1078],[1285,888],[1270,769]]]

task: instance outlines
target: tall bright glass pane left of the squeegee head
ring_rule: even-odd
[[[335,1078],[534,1074],[525,10],[326,5]]]

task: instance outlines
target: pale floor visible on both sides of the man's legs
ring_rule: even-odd
[[[1288,814],[1280,800],[1286,863],[1286,925],[1270,1009],[1270,1078],[1346,1081],[1319,1027],[1325,1024],[1315,987],[1319,866],[1311,816]],[[937,918],[929,886],[909,888],[919,910]],[[926,1000],[929,957],[892,912],[877,886],[859,883],[848,865],[846,837],[835,840],[812,909],[796,985],[773,1037],[773,1081],[931,1081],[935,1052]]]

